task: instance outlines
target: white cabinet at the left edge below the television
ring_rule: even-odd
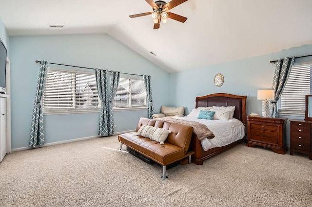
[[[0,97],[0,162],[7,153],[6,98]]]

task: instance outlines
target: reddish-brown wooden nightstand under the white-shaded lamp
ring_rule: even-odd
[[[246,146],[271,148],[275,153],[285,154],[286,122],[288,118],[247,117],[248,137]]]

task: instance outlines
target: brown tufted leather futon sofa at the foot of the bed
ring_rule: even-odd
[[[163,145],[151,140],[137,136],[138,129],[147,124],[158,128],[165,128],[172,131]],[[140,118],[136,132],[129,132],[118,136],[121,150],[122,144],[125,144],[130,149],[136,151],[140,155],[154,160],[162,165],[162,178],[166,179],[166,166],[177,162],[183,158],[189,157],[191,162],[191,155],[194,151],[189,150],[193,127],[178,123],[169,123],[159,120],[151,120],[147,118]]]

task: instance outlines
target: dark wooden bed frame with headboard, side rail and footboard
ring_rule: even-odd
[[[228,93],[214,93],[207,96],[196,97],[195,108],[197,107],[207,107],[207,106],[235,106],[234,118],[240,120],[247,129],[247,121],[246,121],[246,99],[247,96],[236,96]],[[246,130],[245,130],[246,131]],[[245,133],[244,138],[237,140],[231,144],[228,144],[223,147],[216,147],[209,149],[208,151],[204,151],[201,146],[201,141],[197,138],[195,134],[193,134],[193,149],[195,154],[192,156],[192,161],[196,165],[202,165],[203,160],[217,155],[230,147],[242,143],[246,139],[247,133]]]

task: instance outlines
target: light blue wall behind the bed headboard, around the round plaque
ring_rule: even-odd
[[[247,114],[261,114],[261,100],[257,100],[257,90],[271,89],[272,87],[275,64],[271,64],[270,61],[311,53],[312,45],[307,45],[239,61],[170,74],[170,97],[172,104],[184,105],[186,107],[185,114],[188,114],[195,107],[196,96],[204,96],[211,93],[231,93],[247,96]],[[312,61],[312,57],[296,59],[295,63],[307,61]],[[214,77],[217,73],[222,73],[224,76],[224,83],[220,87],[214,84]],[[303,119],[304,117],[290,116],[288,118],[292,120]],[[288,122],[288,145],[290,145],[289,130]]]

